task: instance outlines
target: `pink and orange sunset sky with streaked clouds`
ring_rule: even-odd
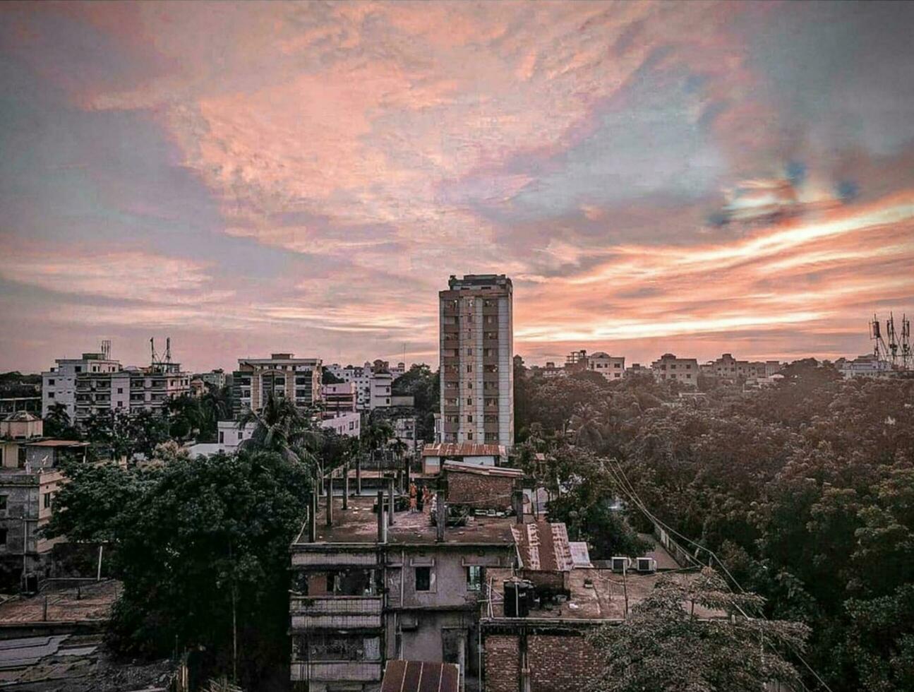
[[[914,316],[914,4],[0,5],[0,370],[855,356]]]

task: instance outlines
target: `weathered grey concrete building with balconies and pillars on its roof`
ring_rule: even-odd
[[[291,547],[293,689],[377,689],[395,659],[456,664],[478,679],[478,600],[486,570],[515,564],[509,515],[521,477],[491,471],[446,467],[447,490],[420,513],[377,514],[376,499],[361,496],[344,511],[332,492],[318,507],[313,495]],[[381,508],[393,504],[392,484]]]

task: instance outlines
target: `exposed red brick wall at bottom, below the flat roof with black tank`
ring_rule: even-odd
[[[485,636],[487,692],[520,692],[518,646],[516,634]],[[526,647],[532,692],[572,692],[599,671],[600,655],[582,636],[529,634]]]

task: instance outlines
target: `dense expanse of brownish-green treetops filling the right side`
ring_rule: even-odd
[[[615,460],[643,506],[763,595],[769,616],[812,627],[808,660],[835,692],[910,689],[914,380],[844,380],[813,360],[784,374],[751,391],[709,380],[703,399],[653,378],[525,378],[518,438],[536,431],[556,463],[568,444]]]

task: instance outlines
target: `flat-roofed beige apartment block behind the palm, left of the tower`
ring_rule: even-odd
[[[232,373],[232,411],[260,410],[267,399],[283,397],[307,408],[321,399],[321,359],[274,353],[269,358],[239,358]]]

